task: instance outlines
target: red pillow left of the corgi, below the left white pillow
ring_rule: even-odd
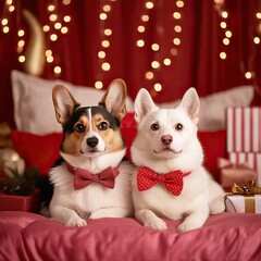
[[[41,175],[46,175],[60,158],[62,136],[62,133],[39,136],[18,130],[12,132],[14,149],[25,160],[26,169],[37,166]]]

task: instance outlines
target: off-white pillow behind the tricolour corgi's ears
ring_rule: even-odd
[[[12,71],[11,78],[16,128],[38,135],[62,130],[61,125],[57,122],[52,103],[52,87],[54,85],[62,84],[69,88],[82,105],[97,105],[105,92],[94,87],[42,79],[18,71]],[[134,102],[129,97],[127,97],[126,108],[127,111],[134,111]]]

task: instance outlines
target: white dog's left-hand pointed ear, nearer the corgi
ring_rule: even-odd
[[[149,91],[145,88],[141,88],[135,99],[135,120],[139,123],[142,117],[151,110],[158,109],[154,104]]]

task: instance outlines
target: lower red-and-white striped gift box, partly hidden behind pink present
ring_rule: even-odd
[[[261,186],[261,153],[229,152],[228,159],[233,164],[247,164],[257,171],[257,185]]]

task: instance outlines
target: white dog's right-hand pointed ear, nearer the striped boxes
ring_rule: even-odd
[[[185,92],[178,107],[187,112],[195,124],[198,124],[200,101],[195,88],[191,87]]]

